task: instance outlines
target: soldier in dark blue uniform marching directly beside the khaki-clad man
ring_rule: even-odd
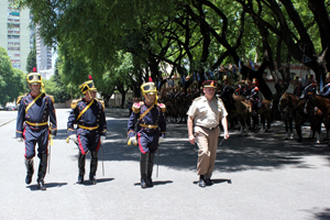
[[[153,187],[152,173],[154,155],[160,143],[165,138],[165,105],[157,103],[157,90],[154,82],[141,86],[144,102],[135,102],[128,123],[129,145],[139,144],[141,152],[140,172],[141,187]]]

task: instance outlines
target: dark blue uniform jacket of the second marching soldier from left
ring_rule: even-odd
[[[98,127],[95,131],[98,131],[98,134],[106,136],[107,133],[107,121],[105,116],[105,109],[100,101],[94,100],[94,103],[87,109],[86,112],[77,120],[79,113],[89,105],[85,99],[77,101],[72,105],[72,112],[68,117],[67,122],[67,132],[68,135],[75,134],[74,124],[95,128]],[[77,128],[77,134],[81,132],[89,132],[88,130]]]

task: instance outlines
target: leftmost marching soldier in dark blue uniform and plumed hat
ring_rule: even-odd
[[[52,143],[53,135],[56,135],[56,114],[54,98],[44,94],[42,77],[38,73],[30,73],[26,76],[31,92],[18,98],[19,111],[16,120],[16,139],[25,141],[25,183],[32,182],[34,173],[33,157],[35,156],[35,144],[37,143],[37,157],[40,158],[37,172],[37,187],[46,189],[44,178],[47,169],[48,141]],[[42,92],[40,91],[42,87]],[[50,125],[48,125],[50,118]]]

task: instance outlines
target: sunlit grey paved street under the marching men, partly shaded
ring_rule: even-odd
[[[4,113],[0,111],[0,119]],[[65,143],[68,113],[69,109],[57,110],[46,191],[37,190],[36,172],[30,186],[24,183],[24,145],[14,139],[15,120],[0,127],[0,219],[330,219],[328,142],[285,141],[282,124],[249,136],[232,131],[218,147],[216,184],[200,188],[197,146],[188,142],[186,124],[168,124],[158,178],[155,166],[155,186],[141,189],[139,150],[127,145],[128,116],[107,113],[98,184],[77,185],[78,150]],[[35,170],[37,165],[35,158]],[[89,156],[86,165],[88,174]]]

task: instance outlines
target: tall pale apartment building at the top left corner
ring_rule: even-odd
[[[8,52],[12,66],[25,73],[30,53],[30,10],[10,7],[10,0],[0,0],[0,46]]]

